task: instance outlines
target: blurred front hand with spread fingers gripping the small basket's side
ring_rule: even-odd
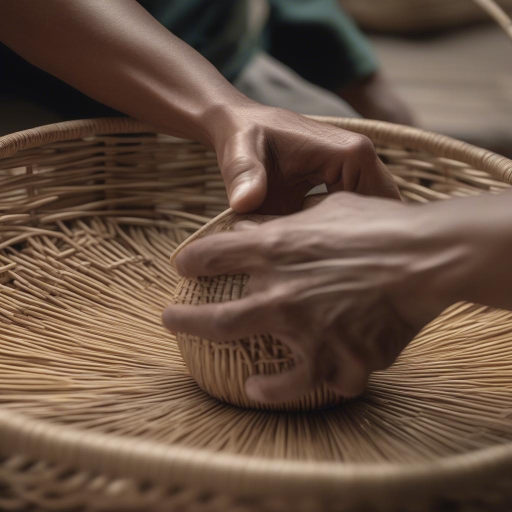
[[[164,324],[221,341],[268,332],[287,344],[295,368],[251,377],[254,400],[292,400],[322,380],[357,395],[451,302],[434,287],[444,249],[418,235],[425,208],[335,193],[298,214],[200,239],[178,255],[179,273],[248,273],[249,295],[169,306]]]

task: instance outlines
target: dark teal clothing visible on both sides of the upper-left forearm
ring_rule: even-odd
[[[230,81],[261,50],[330,90],[377,69],[367,40],[337,0],[268,0],[268,21],[252,35],[248,35],[247,0],[140,3]],[[0,94],[4,93],[40,104],[67,119],[119,115],[0,44]]]

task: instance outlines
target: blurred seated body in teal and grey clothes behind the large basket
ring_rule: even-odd
[[[379,68],[369,41],[337,0],[139,0],[139,4],[254,100],[303,114],[413,123],[409,108]],[[118,114],[6,47],[0,49],[0,64],[5,70],[0,91],[42,105],[64,119]]]

